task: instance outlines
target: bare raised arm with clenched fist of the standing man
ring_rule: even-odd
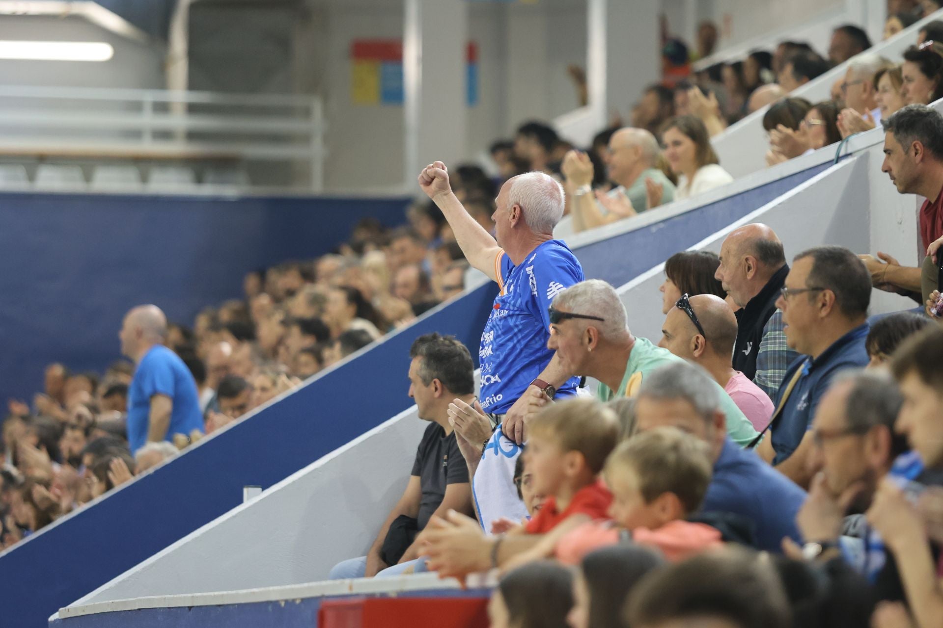
[[[482,271],[491,279],[498,281],[499,268],[495,264],[501,247],[490,233],[465,210],[455,198],[452,185],[449,184],[449,171],[440,161],[429,164],[419,175],[422,191],[442,210],[455,233],[455,240],[469,264]]]

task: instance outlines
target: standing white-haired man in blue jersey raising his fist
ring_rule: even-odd
[[[449,221],[455,239],[475,268],[498,283],[498,296],[482,332],[481,410],[498,427],[490,430],[476,412],[455,401],[455,434],[472,476],[478,519],[490,530],[496,519],[527,515],[514,487],[514,464],[524,441],[524,418],[555,397],[574,395],[554,351],[548,308],[554,297],[582,282],[583,268],[567,246],[554,240],[563,217],[563,187],[542,172],[509,179],[495,200],[495,236],[455,198],[440,161],[419,175],[422,191]],[[475,404],[477,406],[477,404]]]

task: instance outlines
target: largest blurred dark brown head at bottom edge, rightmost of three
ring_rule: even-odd
[[[733,550],[653,572],[633,589],[622,615],[632,628],[787,628],[790,617],[786,591],[769,561]]]

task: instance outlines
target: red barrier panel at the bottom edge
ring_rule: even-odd
[[[486,598],[325,600],[319,628],[488,628]]]

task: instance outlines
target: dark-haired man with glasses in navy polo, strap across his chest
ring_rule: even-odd
[[[786,344],[802,354],[786,371],[769,424],[771,438],[757,453],[803,488],[812,479],[812,419],[832,378],[869,362],[868,269],[852,251],[818,247],[793,260],[776,307],[783,311]]]

